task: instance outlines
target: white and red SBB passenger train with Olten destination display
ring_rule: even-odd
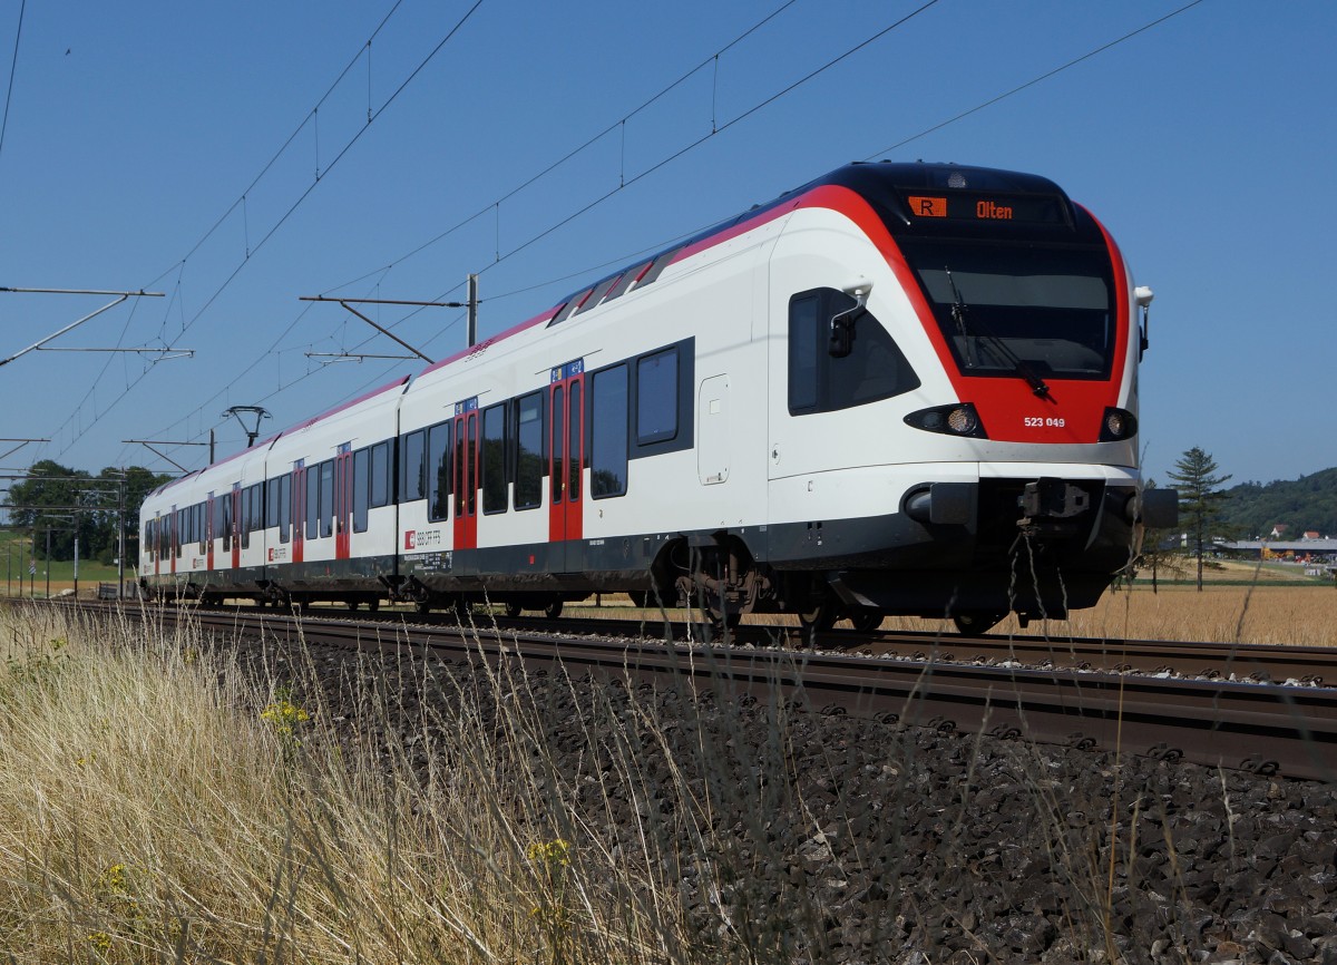
[[[848,164],[162,485],[139,588],[1064,619],[1175,521],[1139,468],[1150,299],[1047,178]]]

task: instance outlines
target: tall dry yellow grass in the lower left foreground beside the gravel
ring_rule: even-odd
[[[497,765],[533,720],[424,707],[424,773],[376,724],[402,684],[341,732],[189,630],[0,613],[0,961],[679,961],[663,889]]]

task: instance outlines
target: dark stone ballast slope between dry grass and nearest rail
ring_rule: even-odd
[[[628,861],[648,841],[703,961],[1337,965],[1330,785],[408,652],[261,666],[314,668],[340,728],[424,781],[424,720],[521,708],[550,813]]]

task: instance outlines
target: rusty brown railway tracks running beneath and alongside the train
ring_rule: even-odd
[[[230,635],[267,635],[283,642],[338,647],[405,647],[441,659],[513,660],[527,668],[580,675],[631,675],[655,683],[719,688],[729,695],[787,700],[814,712],[876,716],[944,732],[984,732],[1047,744],[1150,755],[1213,767],[1290,778],[1337,781],[1337,688],[1298,683],[1293,671],[1310,666],[1312,680],[1332,679],[1337,652],[1285,659],[1288,648],[1189,647],[1199,675],[1174,676],[1162,664],[1136,674],[1132,659],[1151,660],[1154,643],[1040,642],[1007,639],[860,635],[848,654],[758,647],[741,635],[737,646],[647,639],[619,634],[626,626],[599,623],[588,635],[576,622],[545,622],[543,631],[488,617],[473,626],[424,626],[396,620],[330,619],[237,608],[151,611],[172,622],[191,613],[202,628]],[[636,624],[640,627],[642,624]],[[782,630],[782,628],[771,628]],[[614,631],[614,632],[610,632]],[[844,636],[840,634],[828,635]],[[774,638],[774,634],[771,635]],[[1090,650],[1087,650],[1090,647]],[[897,648],[909,648],[893,655]],[[916,650],[919,648],[919,650]],[[1060,668],[1055,656],[1080,662],[1103,655],[1110,670]],[[1134,655],[1130,658],[1130,655]],[[948,660],[947,658],[953,658]],[[1175,658],[1179,659],[1179,658]],[[1035,666],[1021,666],[1034,660]],[[1310,663],[1305,663],[1310,662]],[[1150,666],[1150,664],[1148,664]],[[1247,674],[1245,674],[1247,671]],[[1229,679],[1231,675],[1235,679]],[[1241,679],[1246,676],[1247,679]],[[1286,679],[1292,683],[1274,683]]]

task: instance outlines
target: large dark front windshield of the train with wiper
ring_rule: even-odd
[[[900,243],[963,374],[1032,385],[1108,377],[1116,333],[1104,251]]]

